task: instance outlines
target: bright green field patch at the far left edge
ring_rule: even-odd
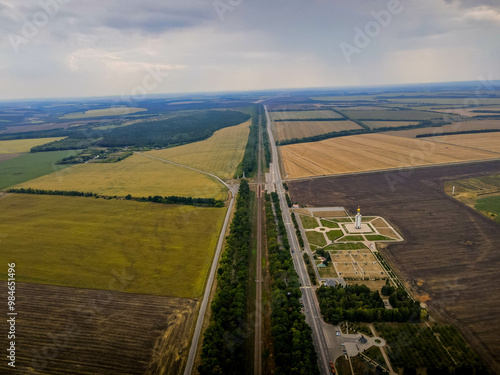
[[[60,170],[67,168],[68,165],[58,165],[56,162],[72,155],[76,155],[76,151],[37,152],[3,161],[0,163],[0,189],[3,190],[49,173],[57,179],[60,177]]]

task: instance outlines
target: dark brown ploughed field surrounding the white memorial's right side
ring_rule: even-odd
[[[444,181],[498,174],[500,161],[289,182],[294,202],[385,217],[406,242],[382,252],[431,311],[454,323],[500,373],[500,227],[442,191]]]

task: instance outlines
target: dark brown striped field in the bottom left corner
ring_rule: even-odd
[[[17,266],[21,269],[23,264]],[[112,274],[109,278],[119,290],[120,280]],[[6,300],[6,282],[0,286]],[[27,283],[16,286],[19,373],[181,373],[195,322],[193,300]],[[4,319],[0,326],[7,332]],[[5,360],[0,372],[9,372]]]

